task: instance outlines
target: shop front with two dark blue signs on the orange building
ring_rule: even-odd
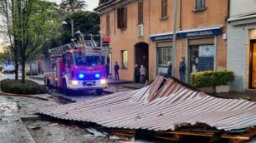
[[[179,58],[184,57],[187,65],[187,79],[192,72],[212,71],[216,69],[217,37],[222,34],[222,27],[202,27],[177,32],[177,43],[186,42],[186,48],[177,44],[176,63],[178,69]],[[172,33],[151,35],[151,41],[156,42],[156,73],[166,74],[168,62],[172,62]],[[184,50],[186,49],[186,51]],[[183,51],[182,51],[183,50]],[[177,70],[176,70],[177,72]],[[177,74],[176,74],[177,75]]]

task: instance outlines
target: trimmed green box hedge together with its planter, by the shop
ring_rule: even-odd
[[[227,70],[194,72],[191,74],[191,84],[207,93],[228,92],[228,83],[233,78],[233,72]]]

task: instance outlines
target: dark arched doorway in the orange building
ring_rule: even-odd
[[[135,45],[135,64],[139,67],[143,65],[146,68],[146,79],[149,79],[149,60],[148,60],[148,44],[146,42],[138,42]]]

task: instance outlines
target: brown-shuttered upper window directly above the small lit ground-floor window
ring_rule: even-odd
[[[127,28],[127,7],[117,10],[117,27],[120,29]]]

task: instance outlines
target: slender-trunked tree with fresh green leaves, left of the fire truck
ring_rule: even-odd
[[[2,2],[2,1],[1,1]],[[1,3],[2,4],[2,3]],[[8,17],[8,33],[13,50],[22,66],[22,82],[25,82],[25,64],[42,52],[42,45],[52,37],[56,28],[56,7],[41,0],[4,0],[3,13]],[[8,7],[8,8],[7,8]]]

